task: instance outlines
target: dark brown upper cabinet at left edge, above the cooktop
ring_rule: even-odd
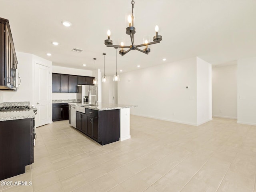
[[[17,57],[7,19],[0,18],[0,89],[16,91]]]

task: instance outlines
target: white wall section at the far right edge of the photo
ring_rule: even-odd
[[[238,60],[237,122],[256,125],[256,57]]]

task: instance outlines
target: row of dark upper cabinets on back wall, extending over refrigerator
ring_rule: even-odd
[[[77,93],[77,85],[94,85],[94,77],[52,73],[53,93]]]

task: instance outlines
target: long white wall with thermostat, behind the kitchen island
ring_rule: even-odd
[[[189,89],[186,89],[189,86]],[[120,74],[118,104],[131,114],[197,125],[196,58]]]

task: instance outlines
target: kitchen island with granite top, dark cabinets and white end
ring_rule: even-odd
[[[103,103],[69,103],[69,105],[75,106],[76,109],[75,128],[100,144],[131,138],[130,108],[136,107],[135,105]],[[107,142],[99,141],[105,136],[108,138]]]

